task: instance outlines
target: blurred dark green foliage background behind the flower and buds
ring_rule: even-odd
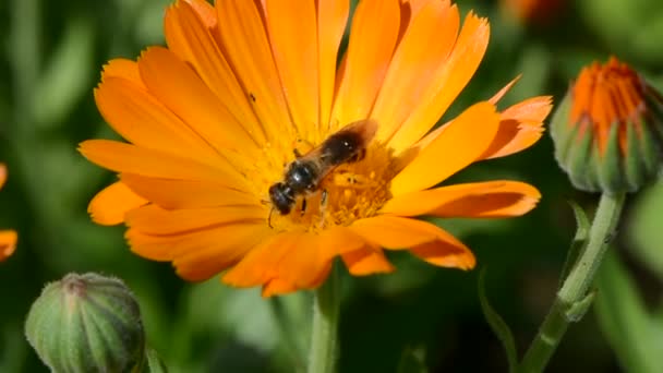
[[[511,1],[517,3],[518,1]],[[663,2],[545,1],[535,16],[515,16],[496,1],[459,1],[463,14],[489,16],[492,37],[479,72],[444,119],[486,99],[516,75],[503,107],[550,94],[558,101],[579,69],[617,56],[663,87]],[[85,161],[76,144],[114,136],[94,105],[101,65],[162,45],[170,0],[0,1],[0,227],[20,233],[0,264],[0,372],[43,372],[23,336],[45,282],[69,272],[123,278],[141,303],[148,342],[172,372],[292,372],[303,366],[310,293],[263,300],[218,279],[186,284],[169,264],[131,254],[122,227],[94,225],[86,206],[113,176]],[[506,2],[505,2],[506,3]],[[443,119],[443,120],[444,120]],[[531,214],[509,220],[441,220],[487,266],[487,296],[513,327],[520,351],[550,306],[575,222],[567,200],[590,212],[596,196],[575,192],[545,135],[526,153],[472,166],[456,181],[515,179],[541,189]],[[663,185],[629,197],[599,276],[598,302],[572,325],[550,372],[663,372]],[[504,372],[502,347],[477,296],[478,270],[445,270],[407,254],[389,276],[343,278],[340,372],[394,372],[421,358],[431,372]],[[301,338],[274,322],[285,311]]]

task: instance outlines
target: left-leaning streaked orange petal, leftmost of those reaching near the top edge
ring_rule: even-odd
[[[216,16],[216,13],[214,13]],[[258,142],[265,142],[265,131],[257,122],[249,97],[240,86],[217,41],[195,10],[185,2],[169,8],[165,17],[169,49],[193,65],[205,84],[216,94],[238,122]]]

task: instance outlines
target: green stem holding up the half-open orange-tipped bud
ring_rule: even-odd
[[[589,287],[619,221],[625,196],[625,193],[601,195],[587,248],[580,253],[557,292],[555,302],[545,316],[539,334],[522,359],[519,372],[543,372],[568,325],[579,321],[584,314],[592,299],[591,294],[588,296]]]

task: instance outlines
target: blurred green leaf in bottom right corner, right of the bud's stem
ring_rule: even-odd
[[[643,301],[613,250],[608,250],[596,277],[596,316],[601,329],[628,372],[663,372],[663,328]],[[658,335],[659,334],[659,335]]]

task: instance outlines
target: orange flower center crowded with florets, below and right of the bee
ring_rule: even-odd
[[[363,159],[341,164],[327,173],[312,192],[296,195],[291,210],[270,213],[268,224],[277,231],[320,231],[373,216],[390,197],[395,159],[384,145],[372,143]]]

